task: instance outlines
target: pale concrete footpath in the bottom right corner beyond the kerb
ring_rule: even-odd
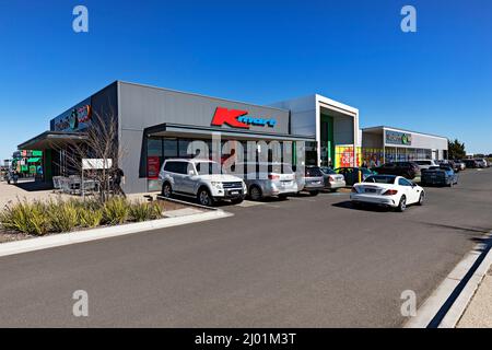
[[[492,267],[483,277],[457,328],[492,328]]]

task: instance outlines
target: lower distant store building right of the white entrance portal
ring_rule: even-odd
[[[362,129],[362,162],[368,166],[388,162],[447,159],[447,138],[387,126]]]

